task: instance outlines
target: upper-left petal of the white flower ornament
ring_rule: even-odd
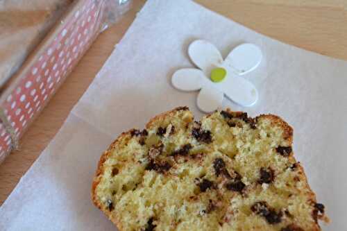
[[[195,40],[189,45],[188,54],[192,62],[202,69],[206,76],[214,67],[222,64],[223,58],[214,44],[205,40]]]

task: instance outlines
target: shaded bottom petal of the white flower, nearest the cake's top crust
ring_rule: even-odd
[[[196,104],[203,112],[213,112],[221,107],[223,95],[223,92],[220,92],[218,89],[205,85],[198,93]]]

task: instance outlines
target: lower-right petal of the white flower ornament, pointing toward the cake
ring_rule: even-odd
[[[244,107],[255,104],[258,99],[258,92],[253,83],[238,76],[228,75],[221,83],[215,83],[215,87]]]

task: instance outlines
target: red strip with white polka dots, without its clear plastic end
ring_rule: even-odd
[[[17,87],[6,96],[3,112],[14,131],[13,137],[0,120],[0,162],[10,152],[12,139],[23,135],[27,126],[89,48],[101,28],[105,4],[87,0],[83,7],[60,25],[60,33],[42,51]]]

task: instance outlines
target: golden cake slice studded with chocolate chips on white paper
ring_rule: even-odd
[[[122,133],[101,156],[92,200],[125,230],[321,230],[324,206],[271,114],[186,107]]]

